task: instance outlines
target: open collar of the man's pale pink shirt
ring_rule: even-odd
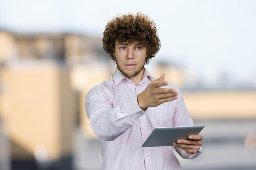
[[[142,77],[141,82],[145,82],[147,79],[150,79],[153,81],[155,78],[149,73],[149,71],[144,67],[144,75]],[[117,68],[115,70],[115,73],[113,74],[114,84],[117,86],[123,79],[126,79],[130,81],[127,77],[125,77]],[[140,83],[141,83],[140,82]],[[140,84],[139,83],[139,84]]]

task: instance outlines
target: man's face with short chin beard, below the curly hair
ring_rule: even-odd
[[[146,60],[146,47],[134,42],[116,42],[114,56],[119,71],[129,79],[142,78]]]

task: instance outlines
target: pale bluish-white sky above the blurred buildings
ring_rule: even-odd
[[[256,87],[255,9],[256,0],[0,0],[0,28],[102,37],[117,13],[141,11],[162,42],[153,60],[179,64],[205,84],[225,75]]]

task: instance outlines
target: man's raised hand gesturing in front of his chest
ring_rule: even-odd
[[[175,89],[161,88],[161,86],[168,85],[168,82],[164,81],[164,76],[164,73],[162,73],[158,79],[150,82],[147,88],[137,96],[138,104],[142,110],[178,98],[178,92]]]

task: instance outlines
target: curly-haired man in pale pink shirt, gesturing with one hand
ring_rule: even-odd
[[[164,73],[155,79],[144,68],[160,49],[155,23],[141,13],[116,16],[102,41],[117,69],[85,97],[101,141],[101,170],[179,170],[171,146],[141,147],[156,127],[193,126],[180,90],[164,81]],[[197,157],[201,146],[201,135],[174,144],[184,159]]]

